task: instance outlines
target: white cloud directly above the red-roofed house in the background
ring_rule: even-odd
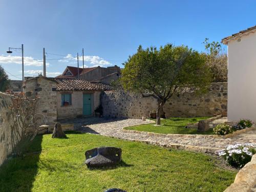
[[[112,66],[113,64],[107,60],[104,60],[103,58],[99,57],[99,56],[90,56],[90,55],[87,55],[87,56],[84,56],[84,61],[85,62],[89,62],[90,65],[93,65],[93,66],[90,66],[90,67],[95,67],[95,66]],[[78,57],[79,59],[79,62],[82,61],[82,56]],[[58,60],[59,62],[69,62],[69,63],[76,63],[77,61],[77,57],[75,56],[72,56],[71,54],[68,54],[65,58],[63,59],[59,59]]]

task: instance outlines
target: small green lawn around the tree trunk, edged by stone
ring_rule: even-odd
[[[215,135],[213,130],[207,132],[197,132],[197,129],[187,129],[187,123],[196,123],[209,117],[194,117],[194,118],[166,118],[161,119],[161,125],[155,126],[155,123],[142,124],[137,126],[125,127],[125,130],[136,130],[143,132],[163,133],[163,134],[201,134],[201,135]]]

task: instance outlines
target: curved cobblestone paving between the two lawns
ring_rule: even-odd
[[[62,121],[65,122],[65,121]],[[66,121],[68,122],[68,121]],[[179,145],[193,145],[209,148],[223,148],[228,144],[234,143],[256,143],[256,131],[249,131],[238,136],[222,139],[222,138],[169,138],[169,137],[155,137],[135,133],[121,132],[123,127],[151,123],[152,121],[142,121],[140,119],[112,119],[112,118],[83,118],[74,119],[74,129],[83,133],[100,134],[104,136],[116,137],[125,140],[140,140],[147,143],[158,142],[163,146],[170,146],[171,144]]]

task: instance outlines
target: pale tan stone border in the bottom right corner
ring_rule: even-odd
[[[237,174],[234,182],[224,192],[249,192],[256,189],[256,154]]]

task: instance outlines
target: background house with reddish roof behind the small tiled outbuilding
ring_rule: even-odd
[[[87,81],[101,82],[110,84],[111,80],[116,80],[120,75],[120,67],[93,67],[93,68],[77,68],[67,66],[63,73],[56,78],[79,78]]]

